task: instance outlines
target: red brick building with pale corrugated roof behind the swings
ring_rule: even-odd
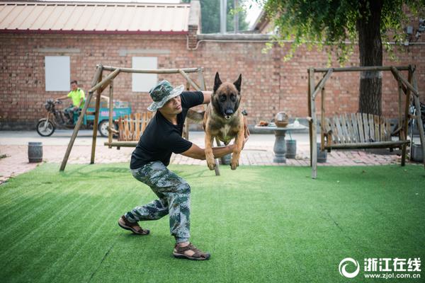
[[[66,76],[88,90],[96,64],[138,69],[204,67],[209,89],[216,71],[227,81],[234,81],[242,73],[242,107],[249,112],[250,125],[270,120],[279,111],[288,112],[291,117],[307,116],[307,68],[326,67],[326,53],[302,48],[293,59],[284,62],[288,46],[261,52],[268,35],[203,35],[199,23],[198,1],[1,1],[0,129],[34,129],[38,119],[45,115],[45,100],[67,93]],[[399,62],[385,59],[385,65],[416,64],[421,100],[425,100],[421,91],[425,87],[424,43],[419,38],[405,46],[404,52],[397,53]],[[353,54],[346,65],[357,66],[358,54]],[[180,75],[141,80],[132,79],[131,74],[120,74],[114,81],[114,98],[130,101],[133,112],[144,112],[150,103],[148,86],[138,85],[137,81],[161,79],[184,83]],[[326,101],[329,115],[356,112],[358,81],[359,74],[331,76]],[[383,74],[382,81],[384,115],[396,117],[397,83],[391,74]]]

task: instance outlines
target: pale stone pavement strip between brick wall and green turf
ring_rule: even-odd
[[[1,131],[0,132],[0,155],[6,154],[0,159],[0,183],[10,177],[27,172],[38,166],[28,163],[28,141],[42,141],[43,161],[49,163],[61,163],[67,149],[71,130],[59,130],[51,137],[40,137],[35,131]],[[292,134],[297,140],[297,156],[295,159],[287,159],[287,163],[273,163],[273,134],[251,134],[241,154],[241,165],[271,165],[271,166],[310,166],[310,146],[308,134]],[[190,140],[200,147],[204,145],[203,132],[191,132]],[[98,137],[96,145],[95,163],[130,162],[132,148],[122,147],[108,149],[103,146],[106,138]],[[91,131],[81,130],[68,159],[68,163],[90,163],[91,156]],[[326,163],[319,166],[359,166],[359,165],[383,165],[399,163],[396,152],[390,155],[371,154],[366,151],[331,151],[327,156]],[[205,161],[188,158],[180,154],[171,156],[173,164],[205,165]],[[66,169],[65,169],[66,170]]]

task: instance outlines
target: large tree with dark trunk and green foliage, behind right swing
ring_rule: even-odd
[[[382,42],[390,52],[390,34],[392,41],[404,42],[405,8],[423,13],[424,4],[424,0],[268,0],[265,9],[278,28],[276,40],[280,44],[294,40],[286,58],[300,45],[317,45],[327,49],[329,62],[331,52],[336,52],[344,64],[358,41],[360,66],[382,66]],[[359,94],[359,112],[381,114],[380,72],[361,73]]]

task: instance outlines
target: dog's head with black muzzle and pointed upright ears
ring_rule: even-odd
[[[229,120],[239,108],[241,102],[242,74],[234,83],[222,83],[218,72],[215,74],[214,92],[211,103],[218,115]]]

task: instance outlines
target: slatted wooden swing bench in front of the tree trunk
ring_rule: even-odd
[[[391,138],[390,120],[378,115],[351,113],[325,118],[321,125],[321,149],[401,148],[410,141]]]

